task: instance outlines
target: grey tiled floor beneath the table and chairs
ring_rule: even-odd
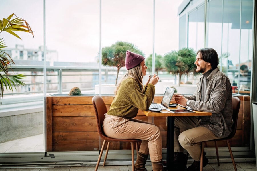
[[[189,166],[189,165],[188,165]],[[238,171],[257,171],[255,162],[237,162]],[[147,165],[148,171],[152,170],[152,166]],[[95,166],[74,166],[74,167],[45,167],[45,168],[0,168],[0,171],[94,171]],[[131,165],[125,166],[99,166],[99,171],[132,171]],[[216,171],[233,171],[234,167],[232,163],[211,163],[204,167],[204,171],[216,170]],[[174,170],[176,171],[176,170]]]

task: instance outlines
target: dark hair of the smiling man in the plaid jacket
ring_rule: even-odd
[[[200,52],[201,59],[204,60],[205,62],[210,63],[212,66],[212,69],[217,68],[219,64],[219,56],[216,50],[212,48],[202,48],[198,50],[196,54],[198,54],[199,52]]]

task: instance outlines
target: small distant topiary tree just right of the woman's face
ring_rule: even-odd
[[[156,71],[156,74],[158,75],[158,71],[163,70],[163,66],[162,66],[162,56],[161,55],[157,55],[155,53],[155,65],[154,65],[154,70]],[[148,70],[152,72],[152,54],[150,54],[150,56],[148,56],[145,60],[146,66],[148,67]]]

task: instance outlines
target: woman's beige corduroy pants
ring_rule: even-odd
[[[150,154],[152,162],[162,160],[162,137],[153,123],[105,114],[103,131],[111,138],[140,139],[140,153]]]

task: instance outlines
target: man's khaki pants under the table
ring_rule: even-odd
[[[220,138],[205,127],[197,127],[198,125],[200,121],[194,116],[175,117],[174,152],[183,152],[185,149],[195,161],[200,161],[201,148],[198,143]]]

